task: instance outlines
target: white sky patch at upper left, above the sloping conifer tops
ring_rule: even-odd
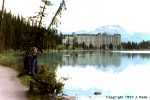
[[[28,17],[35,15],[35,12],[39,10],[40,3],[40,0],[5,0],[5,9],[15,15]]]

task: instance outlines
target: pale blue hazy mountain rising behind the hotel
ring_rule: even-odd
[[[106,25],[96,28],[92,31],[77,31],[77,34],[97,34],[97,33],[107,33],[107,34],[121,34],[122,42],[141,42],[150,40],[150,33],[143,32],[128,32],[126,29],[119,25]]]

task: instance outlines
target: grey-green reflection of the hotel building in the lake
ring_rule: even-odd
[[[99,53],[99,52],[93,52],[93,53],[67,53],[63,55],[63,64],[64,65],[94,65],[98,67],[107,67],[110,65],[113,66],[120,66],[120,54],[116,53]]]

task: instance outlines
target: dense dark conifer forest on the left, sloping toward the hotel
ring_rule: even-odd
[[[0,11],[0,16],[2,12]],[[0,20],[0,50],[26,49],[37,46],[43,49],[55,48],[61,43],[57,30],[47,30],[32,26],[23,17],[14,16],[4,11]]]

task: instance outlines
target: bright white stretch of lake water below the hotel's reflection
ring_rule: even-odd
[[[95,91],[102,96],[149,96],[149,65],[127,66],[121,73],[114,74],[113,69],[102,71],[92,66],[58,69],[60,76],[69,77],[65,82],[65,93],[73,96],[94,96]]]

